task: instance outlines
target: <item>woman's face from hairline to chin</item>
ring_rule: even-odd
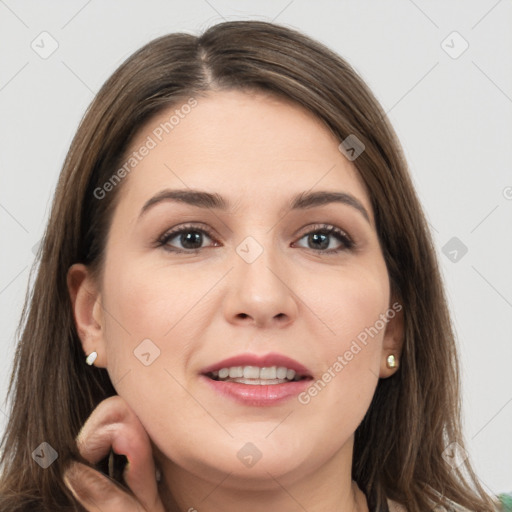
[[[395,309],[365,186],[302,108],[239,91],[196,100],[131,145],[97,295],[98,363],[179,470],[254,482],[349,464],[378,379],[392,372],[398,322],[383,322]],[[310,379],[203,375],[268,354]]]

